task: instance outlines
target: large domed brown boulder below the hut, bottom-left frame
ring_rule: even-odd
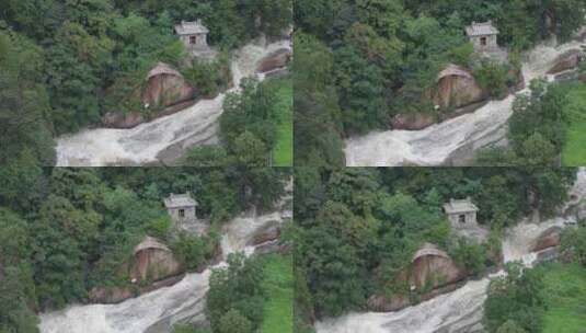
[[[182,265],[173,252],[154,238],[146,237],[134,251],[130,278],[140,280],[160,280],[183,272]]]

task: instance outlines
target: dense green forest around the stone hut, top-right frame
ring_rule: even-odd
[[[399,114],[449,114],[428,95],[448,64],[469,70],[491,97],[502,97],[518,83],[520,53],[553,34],[568,39],[584,24],[586,3],[299,0],[296,9],[296,161],[343,165],[348,136],[390,128]],[[508,48],[505,64],[475,57],[464,35],[472,22],[490,20],[498,26],[499,46]],[[560,148],[558,138],[547,139],[526,145]]]

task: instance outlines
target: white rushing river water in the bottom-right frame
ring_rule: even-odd
[[[571,195],[572,203],[586,197],[586,169],[581,169]],[[564,210],[568,206],[564,207]],[[563,213],[562,213],[563,215]],[[536,239],[545,230],[564,227],[567,219],[553,219],[531,223],[526,219],[506,232],[503,240],[505,262],[521,261],[531,266],[537,254],[531,253]],[[470,280],[455,291],[435,297],[397,312],[349,313],[315,323],[318,333],[475,333],[482,332],[481,319],[490,279],[498,272],[480,280]]]

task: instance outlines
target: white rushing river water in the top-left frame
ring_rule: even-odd
[[[258,62],[275,50],[290,48],[289,41],[265,45],[264,38],[248,44],[232,60],[231,70],[237,91],[242,78],[257,76]],[[58,166],[137,165],[157,161],[157,156],[174,146],[216,143],[217,120],[222,113],[226,93],[214,100],[202,100],[175,114],[140,124],[130,129],[84,129],[57,139]]]

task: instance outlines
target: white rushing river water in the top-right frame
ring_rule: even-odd
[[[585,43],[550,44],[540,45],[524,56],[522,73],[527,85],[532,79],[545,77],[558,56],[570,49],[579,49]],[[474,113],[422,130],[374,131],[351,138],[346,140],[346,165],[443,165],[459,151],[470,154],[470,151],[487,145],[504,142],[514,100],[515,95],[509,95],[503,101],[491,101]]]

